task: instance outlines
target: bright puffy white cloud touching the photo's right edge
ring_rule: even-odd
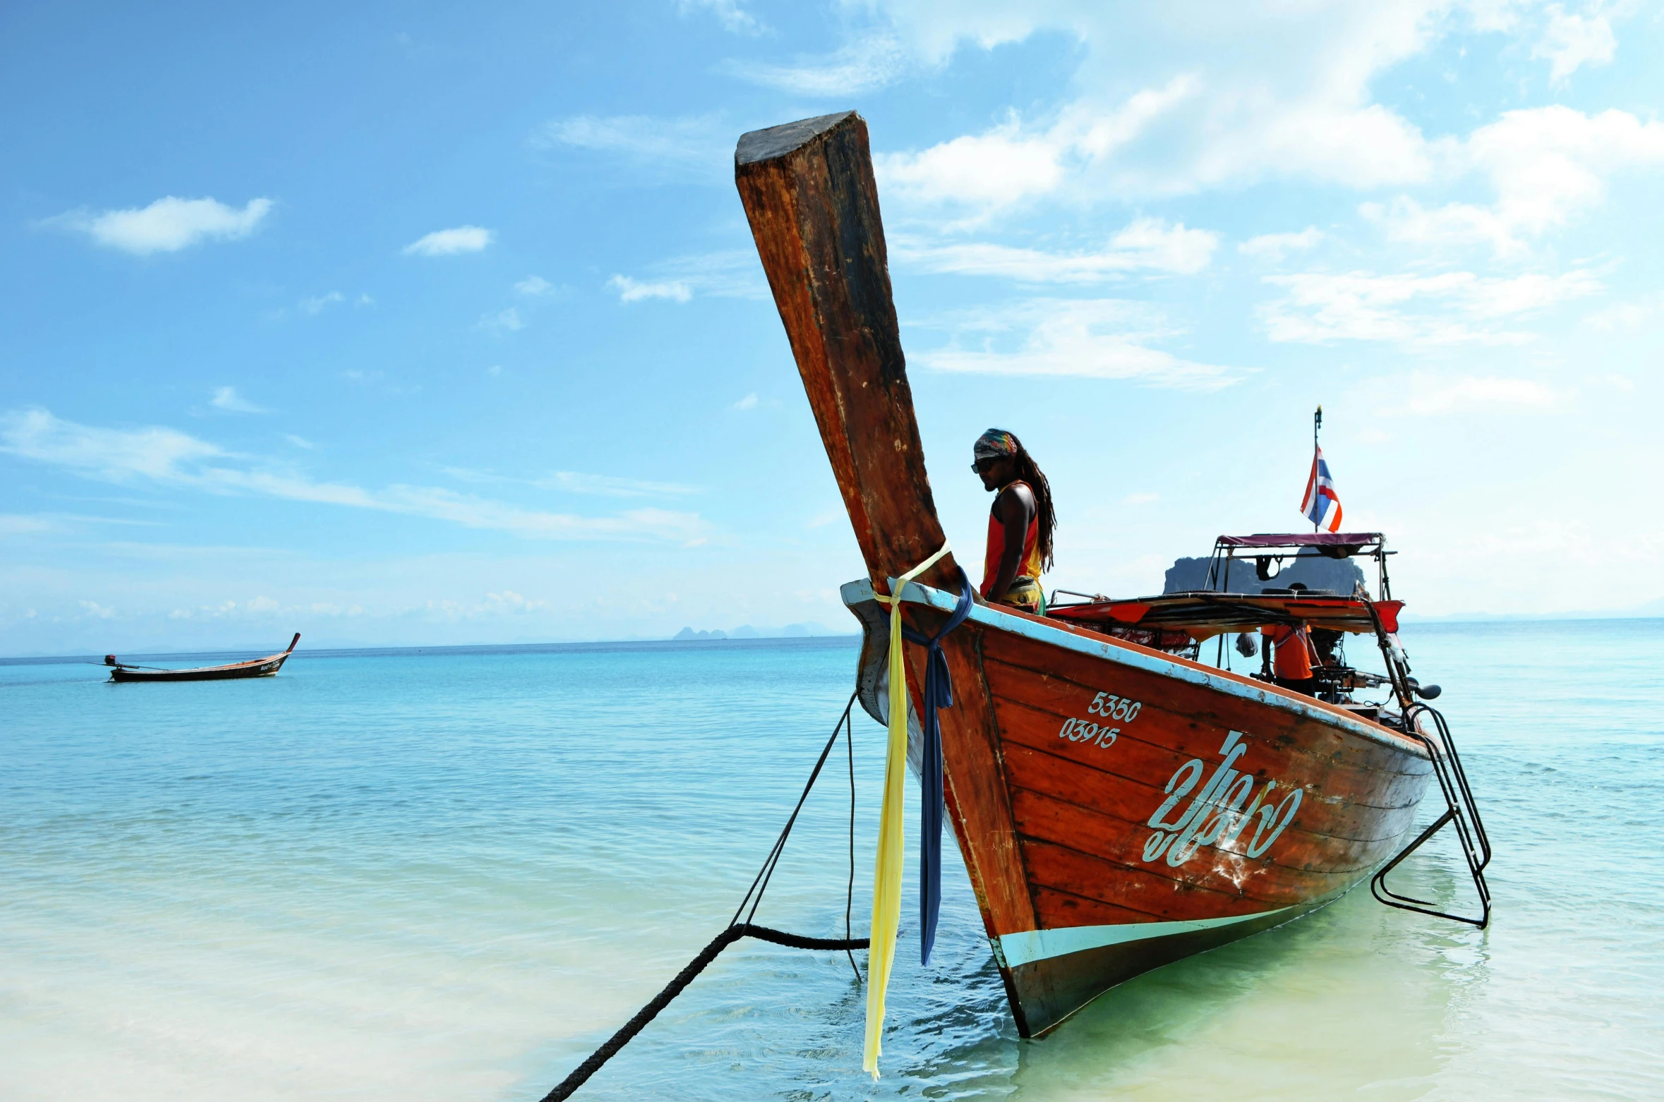
[[[1526,238],[1564,226],[1606,198],[1614,171],[1664,165],[1664,123],[1627,112],[1584,115],[1569,107],[1504,113],[1446,150],[1453,171],[1491,178],[1489,206],[1448,203],[1426,210],[1409,196],[1366,203],[1364,216],[1399,241],[1439,245],[1479,241],[1499,255],[1526,250]]]

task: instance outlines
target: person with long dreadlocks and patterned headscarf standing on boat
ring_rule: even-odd
[[[1052,566],[1052,484],[1022,441],[990,428],[972,448],[970,469],[993,493],[988,514],[988,551],[982,564],[983,599],[1045,614],[1042,571]]]

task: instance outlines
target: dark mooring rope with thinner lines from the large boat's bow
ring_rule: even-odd
[[[561,1084],[542,1097],[542,1102],[562,1102],[569,1099],[574,1090],[584,1085],[584,1082],[601,1070],[601,1065],[617,1055],[619,1049],[627,1045],[631,1039],[636,1037],[642,1029],[647,1027],[659,1010],[671,1005],[676,995],[694,982],[694,977],[706,970],[706,967],[717,959],[717,956],[737,942],[740,937],[755,937],[759,941],[774,942],[775,946],[787,946],[790,949],[832,949],[849,952],[849,965],[855,969],[855,980],[860,982],[860,969],[855,967],[854,949],[867,949],[869,941],[865,937],[849,936],[849,912],[850,901],[855,894],[855,746],[850,731],[850,709],[855,707],[855,696],[849,697],[849,704],[844,706],[844,716],[839,717],[837,726],[832,727],[832,737],[827,739],[825,749],[820,751],[820,759],[815,761],[815,767],[809,772],[809,782],[804,784],[804,794],[797,797],[797,807],[792,809],[790,817],[785,821],[785,827],[780,831],[780,837],[774,841],[774,849],[764,859],[762,867],[757,869],[757,876],[752,877],[750,887],[745,889],[745,897],[740,899],[739,909],[734,911],[734,917],[729,921],[726,931],[711,939],[711,944],[699,951],[699,956],[687,962],[681,972],[676,974],[669,984],[664,985],[657,995],[652,997],[647,1005],[636,1012],[636,1017],[624,1022],[622,1029],[612,1034],[606,1044],[589,1054],[582,1064],[572,1069],[572,1074],[561,1080]],[[792,827],[797,824],[797,812],[804,809],[804,801],[809,799],[809,791],[815,786],[815,779],[820,776],[820,769],[827,764],[827,757],[832,754],[832,747],[837,746],[837,736],[842,732],[845,739],[850,741],[849,746],[849,899],[844,901],[844,937],[804,937],[802,934],[787,934],[782,931],[769,929],[767,926],[755,926],[752,922],[757,917],[757,907],[762,906],[762,894],[769,891],[769,881],[774,877],[774,869],[780,864],[780,854],[785,851],[785,839],[790,836]],[[745,904],[750,904],[750,912],[745,914],[745,921],[740,922],[739,916],[745,911]]]

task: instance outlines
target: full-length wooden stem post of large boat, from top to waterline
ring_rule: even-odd
[[[945,538],[890,301],[867,123],[844,112],[754,130],[734,150],[734,176],[867,573],[889,593],[890,578],[935,554]],[[945,556],[920,581],[957,593],[958,566]],[[919,611],[907,609],[907,616]],[[932,616],[937,619],[927,618],[925,628],[940,623]],[[947,809],[977,906],[993,937],[1033,931],[1033,901],[975,636],[955,631],[942,649],[953,679],[953,706],[940,716]],[[910,688],[917,689],[924,649],[915,648],[909,663]],[[917,704],[917,694],[914,699]],[[1003,962],[1000,974],[1017,1027],[1028,1035]]]

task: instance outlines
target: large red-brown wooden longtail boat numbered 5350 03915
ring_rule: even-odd
[[[735,180],[867,561],[869,578],[844,586],[844,601],[865,626],[860,697],[884,722],[889,609],[877,596],[945,538],[867,125],[845,112],[747,133]],[[1025,1037],[1133,975],[1321,907],[1371,872],[1383,902],[1439,914],[1383,877],[1446,822],[1484,902],[1479,919],[1463,921],[1489,916],[1489,844],[1443,719],[1416,701],[1433,689],[1409,678],[1396,641],[1384,541],[1241,539],[1221,541],[1218,589],[1238,551],[1373,549],[1383,593],[1210,591],[1093,599],[1048,616],[977,604],[942,641],[953,686],[938,716],[948,819]],[[960,578],[947,556],[902,586],[907,624],[934,636]],[[1389,671],[1374,683],[1391,701],[1348,704],[1348,689],[1369,683],[1356,671],[1330,671],[1331,699],[1316,699],[1198,661],[1203,639],[1295,619],[1374,636]],[[912,711],[924,714],[925,651],[909,648],[907,663]],[[919,739],[915,717],[910,726]],[[1434,779],[1449,811],[1401,849]]]

